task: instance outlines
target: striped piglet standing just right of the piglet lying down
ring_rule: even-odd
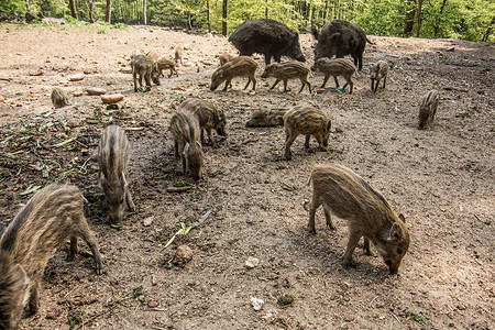
[[[318,141],[321,151],[328,146],[332,122],[323,111],[310,106],[297,106],[284,114],[285,158],[292,158],[290,145],[299,134],[306,135],[305,146],[309,147],[309,138]]]

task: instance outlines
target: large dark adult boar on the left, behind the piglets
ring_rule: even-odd
[[[266,65],[272,56],[279,63],[282,55],[306,62],[299,45],[299,34],[274,20],[245,21],[230,35],[229,41],[241,55],[265,55]]]

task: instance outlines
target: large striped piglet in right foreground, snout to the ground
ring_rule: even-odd
[[[333,229],[331,213],[349,221],[348,250],[342,256],[344,267],[351,264],[352,253],[364,237],[366,252],[371,254],[372,241],[391,273],[397,273],[409,249],[409,232],[404,217],[397,217],[378,191],[345,166],[317,165],[309,180],[312,183],[312,200],[308,230],[316,233],[315,212],[322,205],[328,227]]]

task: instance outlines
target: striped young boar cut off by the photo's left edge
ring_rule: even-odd
[[[70,238],[68,260],[77,254],[77,237],[89,245],[101,274],[102,258],[86,222],[80,190],[51,185],[36,193],[0,238],[0,329],[15,329],[24,305],[36,314],[40,282],[54,249]],[[25,299],[24,299],[25,297]]]

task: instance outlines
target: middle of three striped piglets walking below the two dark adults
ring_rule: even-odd
[[[275,77],[276,80],[273,84],[272,88],[274,89],[278,82],[284,81],[284,91],[287,91],[287,80],[299,78],[302,86],[299,89],[299,92],[302,91],[306,85],[308,85],[309,94],[311,94],[311,84],[308,80],[309,76],[309,67],[299,62],[288,62],[288,63],[272,63],[268,64],[262,74],[262,78]]]

